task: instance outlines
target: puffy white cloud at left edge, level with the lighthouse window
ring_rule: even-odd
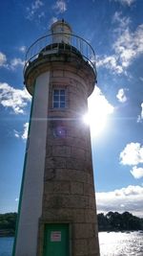
[[[31,96],[26,88],[15,89],[6,82],[0,82],[0,104],[9,107],[15,114],[23,114],[30,101]]]

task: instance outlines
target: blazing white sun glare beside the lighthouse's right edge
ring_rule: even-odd
[[[83,117],[90,125],[92,137],[98,136],[106,128],[108,116],[113,112],[113,106],[107,101],[100,89],[96,86],[88,101],[89,111]]]

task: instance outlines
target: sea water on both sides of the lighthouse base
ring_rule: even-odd
[[[99,232],[100,256],[143,256],[143,233]],[[0,238],[0,256],[11,256],[13,238]]]

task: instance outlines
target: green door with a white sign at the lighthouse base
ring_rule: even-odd
[[[69,255],[69,224],[46,224],[43,256]]]

